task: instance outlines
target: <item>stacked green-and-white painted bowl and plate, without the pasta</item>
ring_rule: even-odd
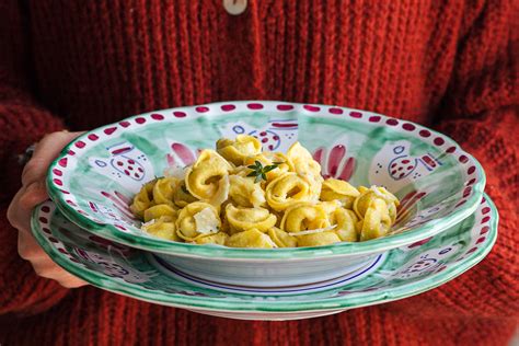
[[[391,233],[264,250],[176,243],[140,230],[128,205],[142,184],[240,134],[269,151],[299,140],[324,175],[385,186],[402,201]],[[470,269],[497,237],[484,172],[455,142],[336,106],[229,102],[134,116],[71,142],[47,183],[53,200],[35,209],[33,233],[66,270],[116,293],[234,319],[302,319],[411,297]]]

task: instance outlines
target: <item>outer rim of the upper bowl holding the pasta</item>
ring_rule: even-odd
[[[165,109],[159,109],[159,111],[153,111],[153,112],[148,112],[148,113],[142,113],[139,115],[135,115],[131,117],[127,117],[125,119],[122,119],[116,123],[112,123],[108,125],[104,125],[101,127],[97,127],[95,129],[92,129],[74,140],[72,140],[67,147],[65,147],[59,155],[53,161],[53,163],[48,168],[48,174],[47,174],[47,191],[49,193],[50,198],[56,203],[57,207],[59,210],[73,223],[77,226],[85,229],[86,231],[100,235],[102,238],[109,239],[112,241],[116,241],[132,247],[138,247],[141,250],[148,250],[148,251],[154,251],[154,252],[160,252],[164,254],[175,254],[175,255],[183,255],[186,257],[211,257],[211,258],[230,258],[230,260],[237,260],[237,258],[244,258],[246,261],[252,260],[252,258],[257,258],[258,261],[266,260],[266,258],[273,258],[276,257],[278,260],[287,260],[287,258],[309,258],[313,257],[315,255],[319,256],[326,256],[326,257],[333,257],[337,255],[362,255],[362,254],[369,254],[378,251],[387,251],[390,249],[395,249],[399,246],[403,246],[405,244],[411,244],[417,241],[420,241],[423,239],[432,237],[435,234],[440,233],[442,230],[450,228],[462,220],[464,220],[466,217],[472,215],[478,207],[478,203],[483,196],[484,187],[486,185],[486,175],[483,170],[483,166],[481,163],[470,153],[464,151],[460,145],[458,145],[452,138],[449,136],[446,136],[443,134],[440,134],[434,129],[430,129],[428,127],[425,127],[423,125],[410,122],[410,120],[404,120],[404,119],[396,119],[399,122],[405,122],[408,124],[413,124],[416,128],[416,130],[420,129],[426,129],[428,130],[432,137],[432,135],[442,138],[449,146],[455,148],[455,152],[459,152],[462,155],[465,155],[469,158],[469,161],[472,160],[472,164],[476,168],[477,176],[480,180],[476,180],[476,182],[472,185],[472,193],[468,199],[465,199],[465,203],[463,206],[458,207],[457,210],[453,210],[451,214],[438,218],[438,219],[432,219],[427,221],[424,224],[420,224],[416,229],[401,232],[397,234],[392,234],[388,235],[384,238],[380,239],[374,239],[370,240],[367,242],[356,242],[356,243],[347,243],[347,242],[341,242],[332,245],[324,245],[324,246],[313,246],[313,247],[297,247],[297,249],[268,249],[268,250],[263,250],[263,249],[234,249],[234,247],[224,247],[224,246],[200,246],[200,245],[195,245],[195,244],[187,244],[187,243],[178,243],[178,242],[173,242],[160,238],[151,238],[151,237],[136,237],[135,234],[126,233],[123,231],[119,231],[116,227],[114,227],[111,223],[97,223],[94,222],[93,220],[86,218],[85,216],[77,212],[72,206],[66,203],[64,195],[60,193],[59,186],[55,184],[53,181],[53,170],[56,169],[58,165],[58,162],[60,159],[62,159],[65,155],[68,154],[69,150],[71,147],[74,146],[76,142],[78,141],[89,141],[88,137],[94,131],[100,131],[109,127],[118,126],[119,123],[122,122],[130,122],[132,119],[136,119],[138,117],[146,117],[146,116],[151,116],[154,113],[165,113],[165,112],[176,112],[176,111],[186,111],[186,109],[195,109],[197,107],[216,107],[216,106],[222,106],[226,104],[251,104],[251,103],[262,103],[265,105],[291,105],[293,108],[291,112],[301,112],[305,114],[313,114],[312,112],[308,111],[304,108],[305,106],[315,106],[315,107],[327,107],[330,108],[341,108],[345,112],[360,112],[360,113],[368,113],[370,116],[379,116],[381,120],[379,122],[380,124],[384,124],[383,126],[388,126],[385,124],[387,120],[389,119],[395,119],[390,116],[385,116],[382,114],[369,112],[369,111],[362,111],[362,109],[355,109],[355,108],[349,108],[349,107],[339,107],[339,106],[334,106],[334,105],[324,105],[324,104],[307,104],[307,103],[295,103],[295,102],[285,102],[285,101],[263,101],[263,100],[250,100],[250,101],[226,101],[226,102],[216,102],[216,103],[207,103],[207,104],[201,104],[201,105],[193,105],[193,106],[185,106],[185,107],[173,107],[173,108],[165,108]],[[251,112],[257,112],[255,109],[250,109]],[[222,111],[223,112],[223,111]],[[231,112],[229,112],[231,113]],[[206,114],[206,113],[204,113]],[[207,112],[207,114],[211,114],[210,112]],[[223,113],[221,113],[223,114]],[[320,113],[318,113],[319,116],[323,116]],[[204,115],[199,115],[204,116]],[[326,114],[327,116],[327,114]],[[355,117],[348,117],[349,120],[361,120],[360,118],[355,118]],[[364,120],[364,119],[362,119]],[[404,123],[404,124],[405,124]],[[393,127],[390,127],[393,128]],[[427,139],[423,139],[424,141],[427,141]],[[76,148],[77,149],[77,148]]]

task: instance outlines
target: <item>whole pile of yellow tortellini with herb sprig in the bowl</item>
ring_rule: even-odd
[[[385,235],[399,199],[380,186],[324,180],[299,142],[262,151],[252,136],[222,138],[193,165],[143,185],[130,206],[163,239],[231,247],[320,246]]]

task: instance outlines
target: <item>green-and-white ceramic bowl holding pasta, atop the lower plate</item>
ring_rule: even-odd
[[[170,165],[192,163],[218,138],[239,134],[256,136],[273,151],[299,140],[323,175],[385,186],[402,201],[391,234],[260,250],[176,243],[142,232],[128,209],[142,184]],[[254,101],[158,111],[94,129],[61,152],[47,185],[61,212],[93,234],[157,253],[197,277],[268,287],[345,275],[383,252],[437,234],[474,212],[485,175],[453,140],[411,122],[337,106]]]

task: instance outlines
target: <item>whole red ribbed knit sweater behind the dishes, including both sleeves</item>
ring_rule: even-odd
[[[505,345],[519,311],[517,1],[250,0],[238,16],[221,2],[0,2],[0,344]],[[486,170],[501,217],[495,249],[432,291],[292,322],[67,290],[19,258],[4,211],[26,146],[64,126],[244,99],[370,109],[447,132]]]

